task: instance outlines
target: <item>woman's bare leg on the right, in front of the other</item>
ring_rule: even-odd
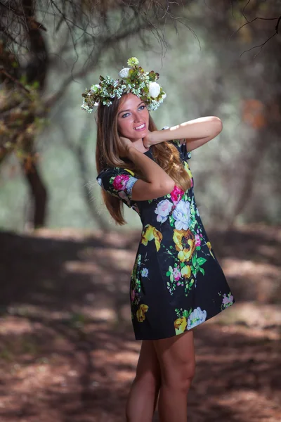
[[[193,332],[153,340],[161,368],[158,412],[161,422],[186,422],[187,397],[195,375]]]

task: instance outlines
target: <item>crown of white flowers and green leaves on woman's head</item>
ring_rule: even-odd
[[[82,94],[84,97],[81,105],[82,110],[92,113],[93,108],[102,103],[104,106],[112,104],[112,98],[121,98],[122,94],[131,92],[145,101],[148,110],[157,110],[159,105],[166,98],[162,87],[157,84],[159,73],[151,70],[145,72],[141,66],[138,66],[138,59],[131,57],[128,60],[130,68],[120,70],[119,77],[122,80],[112,79],[110,76],[100,76],[100,83],[92,85]]]

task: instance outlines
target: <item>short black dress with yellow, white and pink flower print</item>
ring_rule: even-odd
[[[178,335],[235,303],[198,211],[185,143],[173,142],[192,187],[160,198],[132,200],[131,170],[104,169],[98,184],[141,217],[143,229],[131,271],[131,318],[136,340]],[[151,148],[145,152],[154,160]]]

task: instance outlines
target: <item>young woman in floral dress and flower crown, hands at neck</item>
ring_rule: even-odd
[[[159,75],[144,72],[136,58],[128,64],[121,81],[100,77],[82,105],[89,112],[98,106],[96,179],[107,210],[122,225],[126,204],[143,224],[130,283],[133,330],[142,344],[126,420],[152,421],[159,396],[159,421],[185,422],[193,329],[235,302],[202,224],[188,164],[190,151],[222,124],[202,117],[157,130],[149,110],[166,97]]]

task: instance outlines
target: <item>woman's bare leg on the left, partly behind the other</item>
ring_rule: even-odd
[[[161,371],[153,340],[143,340],[133,380],[126,402],[127,422],[152,421],[159,388]]]

